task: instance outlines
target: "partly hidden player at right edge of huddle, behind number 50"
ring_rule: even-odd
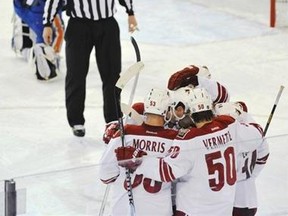
[[[230,115],[244,124],[255,123],[250,116],[247,116],[247,106],[243,102],[219,103],[214,109],[216,115]],[[268,157],[269,146],[265,139],[256,150],[238,155],[233,216],[254,216],[256,214],[258,205],[255,180],[264,168]]]

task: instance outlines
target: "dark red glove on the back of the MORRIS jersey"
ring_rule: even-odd
[[[136,149],[132,146],[119,147],[115,149],[118,165],[125,167],[132,172],[142,163],[142,157],[147,155],[146,152]]]

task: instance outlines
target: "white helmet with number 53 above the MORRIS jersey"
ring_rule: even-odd
[[[169,91],[153,88],[144,100],[144,114],[165,116],[170,102]]]

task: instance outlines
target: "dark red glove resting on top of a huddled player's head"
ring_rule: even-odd
[[[177,71],[169,78],[168,89],[177,90],[190,84],[192,84],[193,86],[197,86],[198,77],[196,75],[198,72],[199,68],[195,65],[190,65],[180,71]]]

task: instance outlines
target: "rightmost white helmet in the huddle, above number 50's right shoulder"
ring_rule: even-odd
[[[239,103],[227,102],[218,103],[214,107],[215,115],[229,115],[237,119],[244,111]]]

